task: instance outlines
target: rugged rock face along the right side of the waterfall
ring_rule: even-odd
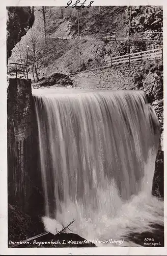
[[[136,79],[137,78],[137,79]],[[152,194],[158,198],[164,196],[164,166],[163,166],[163,62],[147,63],[134,75],[133,89],[143,90],[149,103],[158,116],[160,140],[155,162]]]

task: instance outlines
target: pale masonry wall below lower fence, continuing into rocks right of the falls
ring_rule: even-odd
[[[82,89],[143,90],[158,116],[161,138],[156,158],[152,194],[163,198],[163,61],[120,65],[80,72],[70,76]]]

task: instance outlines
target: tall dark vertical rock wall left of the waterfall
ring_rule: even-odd
[[[8,116],[8,203],[42,213],[41,174],[31,80],[10,79]]]

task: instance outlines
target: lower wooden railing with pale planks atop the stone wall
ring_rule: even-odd
[[[110,57],[110,60],[107,61],[107,65],[114,66],[123,63],[135,63],[143,62],[148,60],[162,59],[163,58],[163,49],[154,49],[149,51],[137,52],[126,54],[122,56]]]

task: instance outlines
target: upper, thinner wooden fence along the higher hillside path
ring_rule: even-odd
[[[102,34],[100,38],[102,40],[109,40],[109,41],[128,40],[128,33],[111,32],[111,33]],[[129,40],[161,42],[163,40],[163,33],[162,32],[130,33]]]

